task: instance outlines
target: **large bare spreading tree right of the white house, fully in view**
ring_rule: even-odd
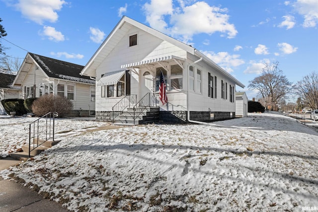
[[[292,90],[292,82],[278,69],[278,65],[278,61],[264,64],[261,75],[249,81],[248,88],[258,91],[265,107],[276,108],[276,104]]]

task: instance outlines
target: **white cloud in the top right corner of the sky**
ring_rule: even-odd
[[[304,27],[315,27],[318,24],[317,0],[297,0],[293,3],[293,7],[304,16]]]

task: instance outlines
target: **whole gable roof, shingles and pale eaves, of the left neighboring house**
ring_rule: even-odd
[[[79,74],[84,68],[83,66],[33,53],[27,53],[25,56],[22,66],[14,79],[14,84],[17,83],[18,80],[20,82],[23,81],[25,75],[33,63],[35,63],[42,71],[44,71],[48,77],[95,84],[95,80],[90,79],[89,76],[82,76]]]

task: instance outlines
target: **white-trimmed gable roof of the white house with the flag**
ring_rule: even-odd
[[[95,71],[97,67],[102,63],[105,57],[107,57],[107,55],[113,50],[113,48],[119,43],[119,41],[128,33],[128,31],[131,29],[132,26],[135,26],[143,31],[146,31],[147,33],[150,33],[151,35],[156,36],[161,40],[167,41],[192,55],[196,55],[198,58],[202,58],[204,62],[206,62],[210,66],[214,67],[216,70],[222,72],[223,74],[225,74],[226,76],[234,80],[237,85],[239,85],[242,88],[245,87],[245,85],[239,82],[239,80],[237,80],[234,76],[232,76],[230,73],[222,69],[216,63],[214,63],[211,59],[209,59],[207,56],[205,56],[204,54],[202,54],[201,52],[199,52],[192,46],[182,43],[181,41],[178,41],[168,35],[165,35],[162,32],[159,32],[158,30],[155,30],[145,24],[135,21],[127,16],[123,16],[120,19],[120,21],[117,23],[115,28],[110,32],[110,34],[107,36],[104,42],[99,46],[97,51],[87,62],[87,64],[85,65],[84,69],[80,72],[80,74],[87,75],[87,76],[89,75],[95,76],[96,75]]]

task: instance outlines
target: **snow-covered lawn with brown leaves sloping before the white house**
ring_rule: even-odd
[[[30,118],[0,119],[1,154]],[[318,210],[318,133],[279,114],[211,125],[57,120],[63,140],[0,172],[74,211]],[[76,128],[76,129],[75,129]]]

